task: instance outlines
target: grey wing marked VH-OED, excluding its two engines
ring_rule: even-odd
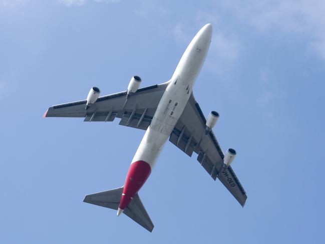
[[[189,156],[192,156],[193,151],[196,152],[197,160],[210,176],[214,180],[218,178],[244,206],[246,192],[232,168],[223,167],[224,154],[212,130],[205,135],[205,123],[206,119],[192,93],[169,141]]]

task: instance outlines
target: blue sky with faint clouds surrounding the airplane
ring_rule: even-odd
[[[0,0],[3,243],[321,243],[323,1]],[[85,194],[123,185],[144,131],[49,118],[49,106],[167,81],[206,23],[194,87],[247,191],[244,208],[171,143],[139,195],[152,233]]]

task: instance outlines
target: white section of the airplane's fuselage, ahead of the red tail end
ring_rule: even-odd
[[[153,168],[191,95],[194,82],[208,52],[211,36],[212,26],[207,24],[187,47],[171,80],[168,81],[166,91],[132,162],[142,160],[149,163],[151,169]]]

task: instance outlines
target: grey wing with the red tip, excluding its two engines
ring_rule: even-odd
[[[156,112],[167,83],[140,88],[128,96],[127,91],[102,96],[87,110],[86,100],[52,106],[44,117],[82,117],[84,121],[113,121],[120,125],[146,130]]]

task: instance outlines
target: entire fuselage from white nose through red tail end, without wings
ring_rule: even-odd
[[[188,45],[171,80],[168,81],[156,113],[129,167],[117,215],[124,211],[146,182],[159,153],[183,113],[209,49],[211,35],[212,27],[207,24]]]

